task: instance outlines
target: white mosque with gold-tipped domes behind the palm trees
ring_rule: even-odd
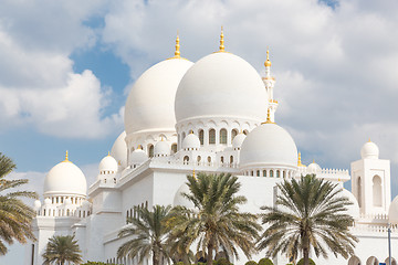
[[[137,208],[155,204],[191,204],[180,195],[188,188],[186,176],[193,170],[231,173],[242,184],[248,203],[242,210],[259,213],[273,205],[275,184],[287,178],[316,173],[338,183],[352,181],[352,232],[359,242],[349,259],[316,258],[326,265],[388,264],[388,227],[392,245],[398,245],[398,197],[391,202],[390,161],[379,158],[376,144],[368,141],[347,169],[305,166],[287,130],[275,123],[279,106],[274,98],[275,78],[266,53],[265,75],[261,77],[243,59],[224,50],[192,63],[180,56],[179,38],[175,56],[148,68],[132,86],[125,106],[125,131],[98,167],[87,189],[82,170],[69,160],[54,166],[44,180],[44,201],[35,201],[33,221],[36,242],[29,245],[25,264],[41,265],[48,240],[75,234],[84,261],[125,265],[136,259],[117,259],[117,248],[126,219]],[[358,148],[359,149],[359,148]],[[264,257],[264,252],[252,259]],[[397,265],[398,248],[392,248]],[[244,264],[245,256],[233,264]],[[285,265],[284,255],[274,264]],[[145,264],[150,265],[150,261]]]

